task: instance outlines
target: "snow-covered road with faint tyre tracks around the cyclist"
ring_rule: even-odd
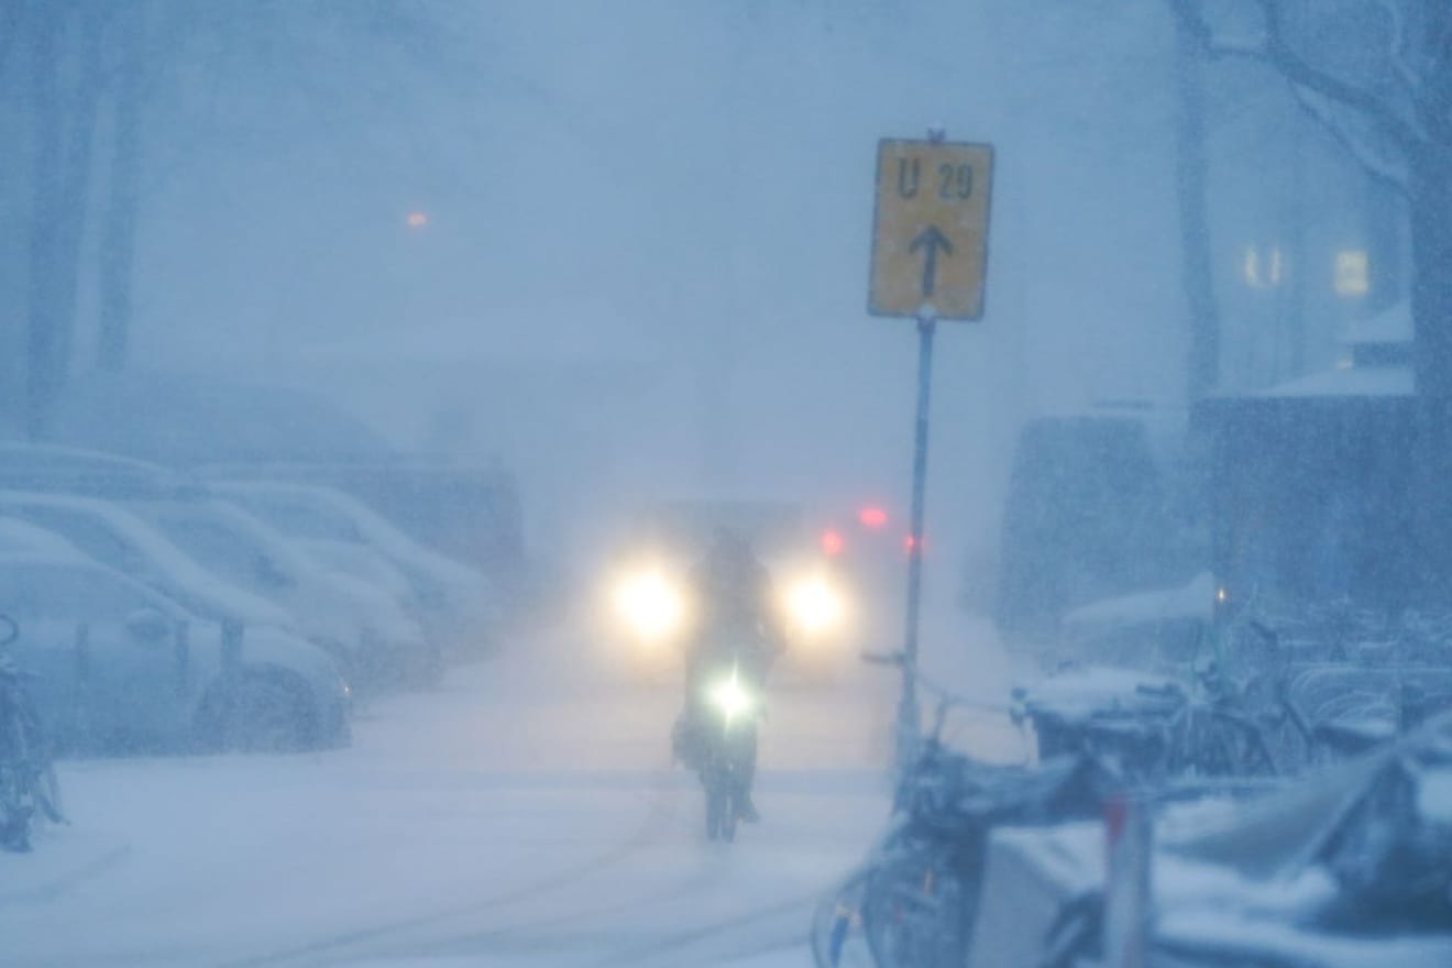
[[[373,702],[347,750],[65,763],[74,824],[0,856],[0,962],[803,965],[886,817],[894,685],[780,684],[729,848],[669,763],[674,681],[568,636]]]

